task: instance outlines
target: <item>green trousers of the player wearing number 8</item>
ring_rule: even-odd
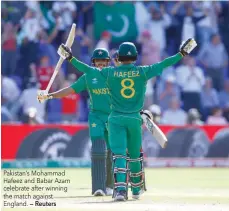
[[[140,157],[140,149],[142,146],[142,118],[139,113],[123,114],[112,112],[108,118],[109,141],[111,151],[114,155],[126,156],[126,149],[129,157],[136,159]],[[117,158],[114,167],[126,168],[126,159]],[[129,164],[131,173],[141,171],[140,162],[131,162]],[[126,174],[117,173],[117,182],[126,182]],[[140,177],[134,177],[133,183],[140,182]],[[119,190],[125,189],[119,187]],[[133,193],[138,192],[139,187],[133,188]]]

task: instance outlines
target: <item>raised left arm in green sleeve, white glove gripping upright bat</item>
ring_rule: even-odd
[[[71,48],[67,47],[64,44],[60,45],[60,47],[58,48],[57,53],[60,55],[61,58],[67,59],[80,72],[89,73],[92,70],[92,68],[89,65],[87,65],[87,64],[79,61],[78,59],[76,59],[72,55]]]

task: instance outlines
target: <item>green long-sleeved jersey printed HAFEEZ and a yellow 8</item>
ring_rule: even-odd
[[[96,75],[104,77],[109,87],[113,111],[135,113],[143,108],[147,81],[160,75],[163,69],[176,64],[181,58],[182,55],[177,53],[175,56],[149,66],[127,64],[118,67],[106,67],[100,72],[75,58],[71,60],[71,63],[79,71],[86,74],[90,73],[89,75],[91,75],[96,72]],[[99,77],[99,79],[101,78]]]

